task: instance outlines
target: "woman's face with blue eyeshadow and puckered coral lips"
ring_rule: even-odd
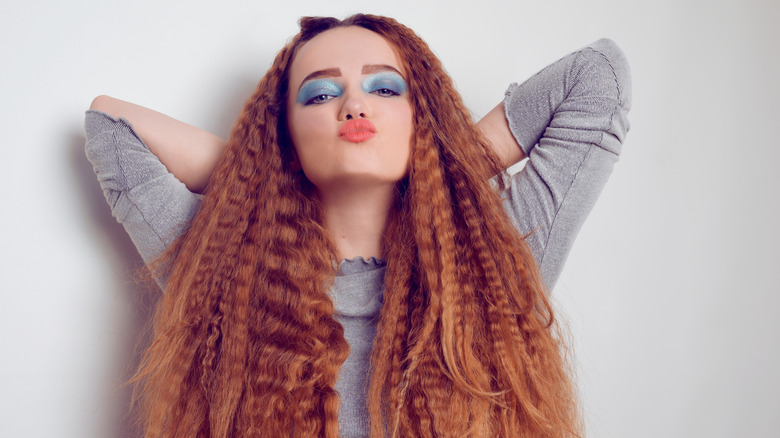
[[[402,64],[384,38],[354,26],[321,33],[298,50],[288,94],[290,137],[319,190],[406,176],[412,108]]]

